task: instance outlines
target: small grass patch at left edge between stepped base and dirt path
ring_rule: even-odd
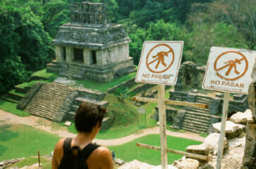
[[[30,113],[16,109],[17,104],[0,99],[0,109],[19,116],[28,116]]]

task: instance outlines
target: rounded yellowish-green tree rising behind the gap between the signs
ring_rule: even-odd
[[[247,48],[245,37],[234,25],[194,25],[193,31],[185,37],[183,55],[185,60],[206,65],[212,46],[226,48]]]

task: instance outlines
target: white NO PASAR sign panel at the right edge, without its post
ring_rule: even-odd
[[[247,93],[255,62],[255,51],[212,47],[202,88]]]

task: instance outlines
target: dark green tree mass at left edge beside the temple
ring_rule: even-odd
[[[51,38],[29,5],[15,0],[3,1],[2,4],[0,93],[24,82],[31,70],[42,69],[54,52],[50,46]]]

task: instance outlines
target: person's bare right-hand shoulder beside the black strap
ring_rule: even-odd
[[[99,162],[100,161],[100,162]],[[108,148],[99,147],[95,149],[88,158],[88,166],[91,168],[113,168],[112,155]],[[90,168],[90,167],[89,167]]]

